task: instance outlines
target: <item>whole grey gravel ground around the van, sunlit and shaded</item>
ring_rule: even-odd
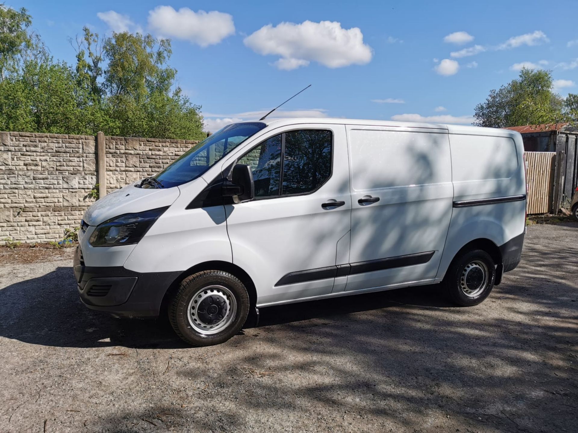
[[[1,432],[576,431],[576,224],[529,227],[477,307],[435,286],[272,307],[210,348],[83,307],[62,254],[0,266]]]

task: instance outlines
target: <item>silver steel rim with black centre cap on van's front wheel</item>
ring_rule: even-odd
[[[236,315],[235,295],[221,285],[210,285],[197,290],[187,308],[188,323],[202,335],[220,333],[235,320]]]

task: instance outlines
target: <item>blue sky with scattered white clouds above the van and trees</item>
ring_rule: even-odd
[[[27,8],[51,54],[70,63],[67,38],[84,25],[171,38],[178,84],[213,131],[258,117],[307,84],[281,114],[469,124],[476,103],[522,64],[551,69],[563,96],[578,93],[578,32],[562,24],[578,2],[552,1],[540,12],[544,4],[8,2]]]

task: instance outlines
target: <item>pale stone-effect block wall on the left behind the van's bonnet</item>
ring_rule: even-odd
[[[110,192],[157,173],[197,141],[106,137]],[[99,182],[95,136],[0,132],[0,241],[58,241]]]

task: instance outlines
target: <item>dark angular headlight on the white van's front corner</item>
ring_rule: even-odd
[[[109,219],[94,229],[90,235],[90,244],[92,247],[136,244],[167,209],[161,207]]]

